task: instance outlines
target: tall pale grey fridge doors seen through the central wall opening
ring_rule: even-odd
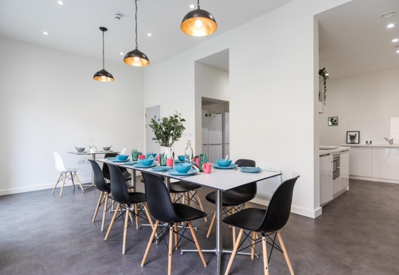
[[[208,154],[208,162],[225,158],[229,152],[228,113],[214,114],[202,110],[202,153]]]

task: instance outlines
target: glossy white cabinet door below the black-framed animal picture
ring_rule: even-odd
[[[371,177],[373,171],[373,151],[371,147],[351,147],[349,151],[349,174]]]

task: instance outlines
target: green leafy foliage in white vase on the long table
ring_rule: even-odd
[[[155,135],[152,140],[156,140],[161,146],[171,147],[175,141],[182,137],[184,130],[186,130],[183,125],[185,121],[177,111],[172,116],[160,118],[159,122],[157,121],[157,116],[154,116],[148,125]]]

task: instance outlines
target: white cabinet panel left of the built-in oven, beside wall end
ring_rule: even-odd
[[[333,199],[333,155],[320,156],[320,205]]]

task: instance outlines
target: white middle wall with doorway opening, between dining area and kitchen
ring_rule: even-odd
[[[231,159],[280,168],[284,179],[298,172],[293,212],[319,215],[314,14],[345,2],[295,0],[147,68],[145,103],[156,98],[164,113],[178,109],[194,131],[195,61],[229,48]]]

